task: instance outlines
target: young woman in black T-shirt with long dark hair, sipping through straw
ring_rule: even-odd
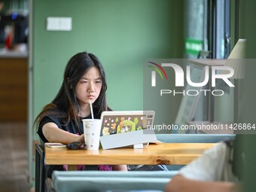
[[[40,139],[63,144],[84,142],[82,119],[91,118],[90,102],[93,103],[95,118],[100,118],[102,111],[108,110],[106,90],[105,72],[99,59],[86,52],[72,56],[66,66],[59,93],[35,119]],[[66,166],[51,167],[47,172],[49,177],[53,169],[65,170]],[[126,165],[79,166],[78,169],[127,170]]]

